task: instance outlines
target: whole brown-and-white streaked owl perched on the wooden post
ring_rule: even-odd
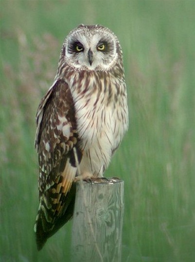
[[[76,181],[103,177],[128,128],[122,50],[108,28],[82,24],[66,37],[36,124],[40,250],[71,219]]]

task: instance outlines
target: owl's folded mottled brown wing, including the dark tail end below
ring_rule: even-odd
[[[75,111],[68,84],[55,81],[42,99],[36,114],[35,148],[39,160],[40,205],[35,223],[40,250],[73,215],[76,163],[80,162]],[[73,150],[75,148],[75,150]]]

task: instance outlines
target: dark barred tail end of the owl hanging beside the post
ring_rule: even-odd
[[[47,193],[41,197],[34,227],[38,250],[41,250],[47,239],[72,218],[75,195],[76,183],[72,182],[70,191],[66,195],[61,194],[60,208],[57,212],[53,209],[53,203],[48,202]]]

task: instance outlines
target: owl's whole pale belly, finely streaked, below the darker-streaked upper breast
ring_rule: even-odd
[[[102,85],[101,92],[91,84],[89,93],[72,91],[79,147],[83,152],[81,175],[103,175],[127,128],[125,96],[120,95],[120,91],[116,100],[117,88],[113,83],[110,89],[109,92],[109,88]]]

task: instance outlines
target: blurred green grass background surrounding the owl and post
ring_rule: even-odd
[[[37,252],[35,113],[65,36],[120,39],[130,128],[106,171],[125,184],[122,262],[195,261],[195,2],[0,1],[1,262],[71,261],[71,222]]]

